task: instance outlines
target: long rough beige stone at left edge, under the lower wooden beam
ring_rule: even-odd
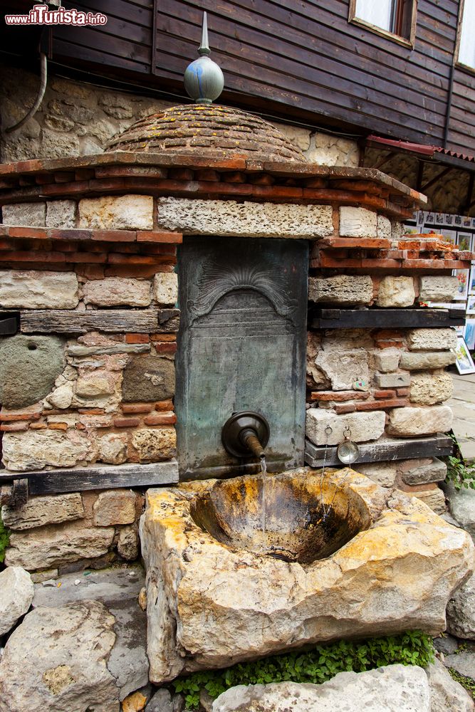
[[[60,524],[82,519],[83,516],[83,500],[78,492],[30,497],[21,507],[3,506],[1,508],[1,518],[5,525],[14,530],[33,529],[46,524]]]

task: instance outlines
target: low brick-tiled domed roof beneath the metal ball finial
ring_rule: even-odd
[[[147,116],[110,141],[106,152],[113,151],[306,162],[301,150],[269,122],[215,104],[172,106]]]

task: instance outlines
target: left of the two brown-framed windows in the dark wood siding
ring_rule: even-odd
[[[475,0],[466,0],[472,5]],[[350,0],[350,21],[402,44],[414,43],[417,0]]]

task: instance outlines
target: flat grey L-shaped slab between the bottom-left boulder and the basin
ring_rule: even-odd
[[[107,666],[118,686],[119,698],[123,700],[148,682],[147,617],[137,605],[137,595],[145,583],[142,567],[91,571],[87,577],[80,578],[79,585],[76,585],[77,580],[78,574],[71,573],[61,576],[59,588],[35,586],[33,607],[58,609],[88,600],[107,607],[115,617],[113,630],[116,636]]]

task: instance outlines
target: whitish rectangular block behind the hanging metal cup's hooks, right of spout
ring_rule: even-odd
[[[314,445],[325,445],[326,426],[332,432],[328,435],[328,445],[338,445],[345,440],[346,429],[351,431],[351,439],[361,443],[377,440],[385,431],[386,414],[382,410],[337,415],[323,408],[310,408],[306,412],[306,436]]]

